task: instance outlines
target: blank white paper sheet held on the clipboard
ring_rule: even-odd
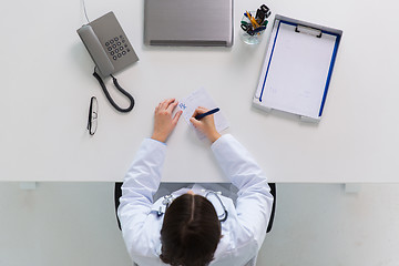
[[[272,37],[256,98],[264,88],[263,105],[318,119],[336,37],[298,33],[283,22],[275,24]]]

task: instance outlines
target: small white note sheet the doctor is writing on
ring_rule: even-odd
[[[194,91],[188,96],[180,100],[177,106],[180,108],[180,110],[183,111],[182,115],[183,115],[184,120],[196,132],[197,136],[201,140],[205,139],[205,135],[202,134],[200,131],[195,130],[193,124],[190,122],[190,119],[193,116],[194,111],[198,106],[203,106],[203,108],[206,108],[209,110],[219,108],[213,101],[211,95],[205,91],[205,89],[200,89],[197,91]],[[217,132],[222,132],[228,127],[228,122],[225,119],[225,116],[223,115],[222,110],[214,114],[214,119],[215,119],[215,126],[216,126]]]

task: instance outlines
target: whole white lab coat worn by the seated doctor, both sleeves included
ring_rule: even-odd
[[[231,198],[221,196],[228,218],[222,222],[223,237],[209,266],[255,265],[272,213],[273,196],[267,180],[250,154],[232,135],[223,135],[211,149],[223,172],[239,191],[236,206]],[[160,232],[164,215],[157,215],[163,198],[153,203],[165,152],[164,143],[145,139],[122,186],[117,215],[127,252],[140,266],[165,265],[160,259]],[[187,191],[180,190],[173,196]],[[193,191],[204,195],[201,186],[194,186]],[[223,213],[215,197],[208,200],[217,214]]]

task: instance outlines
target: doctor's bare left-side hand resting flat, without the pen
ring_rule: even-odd
[[[170,136],[182,115],[182,111],[178,111],[174,117],[172,117],[173,110],[177,106],[177,103],[178,102],[175,101],[175,99],[167,99],[155,108],[154,132],[151,139],[166,142],[166,139]]]

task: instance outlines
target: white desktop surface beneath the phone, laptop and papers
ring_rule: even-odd
[[[253,153],[270,182],[398,182],[395,1],[265,2],[272,20],[279,13],[344,31],[318,125],[252,106],[272,27],[260,44],[250,47],[239,40],[239,20],[244,10],[262,3],[235,1],[231,49],[155,48],[143,44],[143,0],[86,0],[91,20],[115,12],[140,58],[117,74],[136,100],[131,113],[120,114],[91,75],[94,64],[75,32],[85,22],[82,2],[8,1],[0,17],[0,180],[121,181],[143,137],[152,133],[155,105],[205,88],[229,121],[228,132]],[[92,95],[100,104],[94,136],[85,130]],[[208,143],[197,140],[183,119],[167,145],[163,181],[227,181]]]

